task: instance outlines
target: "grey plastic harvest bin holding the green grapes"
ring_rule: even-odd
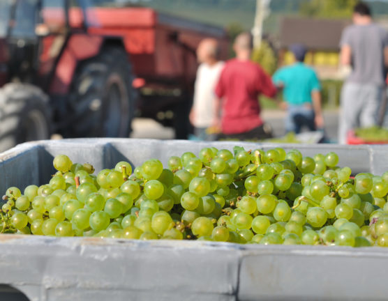
[[[381,174],[387,146],[69,139],[21,144],[0,155],[0,189],[47,183],[64,153],[96,170],[121,160],[198,153],[205,146],[335,151],[339,165]],[[0,300],[387,300],[388,249],[237,245],[204,241],[0,236]]]

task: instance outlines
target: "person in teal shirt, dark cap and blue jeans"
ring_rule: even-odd
[[[295,63],[277,70],[272,80],[278,89],[283,89],[283,98],[288,115],[285,131],[298,134],[306,126],[314,131],[323,128],[321,86],[313,68],[303,63],[306,47],[291,45]]]

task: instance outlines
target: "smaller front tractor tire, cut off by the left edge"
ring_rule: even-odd
[[[0,151],[17,144],[50,139],[49,98],[31,84],[6,84],[0,88]]]

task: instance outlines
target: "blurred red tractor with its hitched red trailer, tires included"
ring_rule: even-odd
[[[185,138],[195,48],[207,36],[225,57],[223,29],[149,8],[1,0],[0,151],[52,133],[128,137],[135,111],[170,118]]]

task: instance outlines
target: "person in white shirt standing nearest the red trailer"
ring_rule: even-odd
[[[200,66],[195,79],[193,107],[190,112],[190,122],[194,134],[200,140],[213,140],[207,134],[207,128],[212,125],[214,116],[214,89],[223,70],[223,61],[218,61],[219,47],[217,40],[205,38],[197,47],[197,60]]]

